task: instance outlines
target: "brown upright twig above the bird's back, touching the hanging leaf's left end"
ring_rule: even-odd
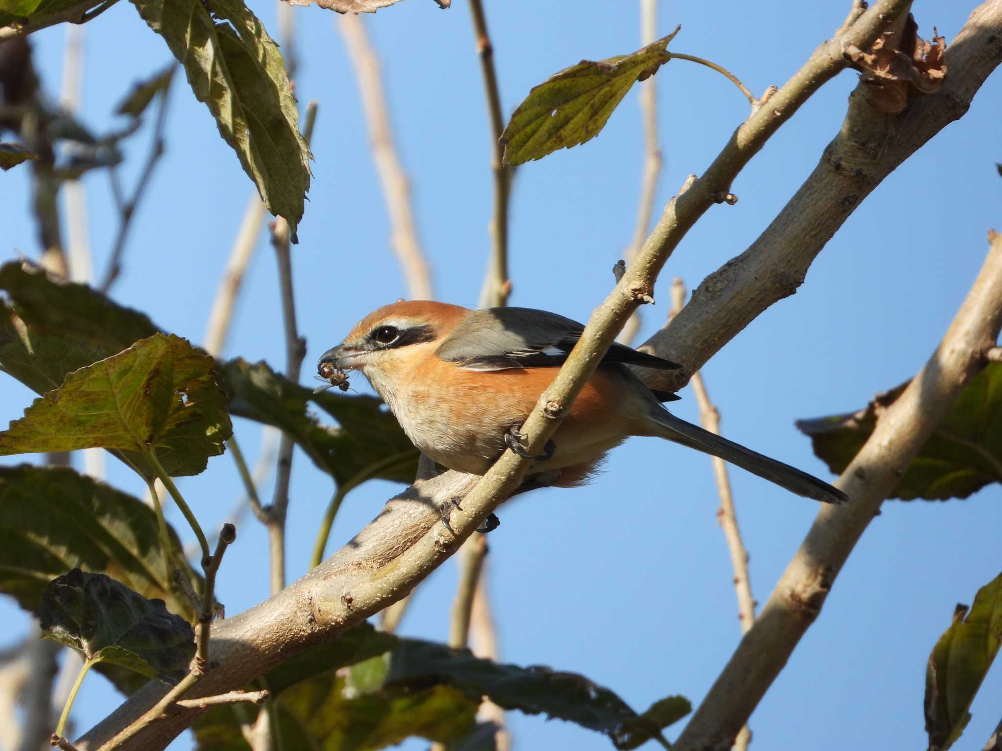
[[[477,40],[484,92],[487,95],[487,115],[491,125],[491,172],[494,175],[494,209],[490,223],[491,255],[480,292],[480,305],[502,307],[508,303],[508,295],[511,294],[511,279],[508,276],[508,206],[515,168],[502,161],[504,114],[501,111],[501,94],[494,68],[494,45],[487,33],[487,18],[482,0],[470,0],[470,17]]]

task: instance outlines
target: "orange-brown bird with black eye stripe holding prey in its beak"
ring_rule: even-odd
[[[317,366],[322,380],[360,371],[422,453],[450,470],[483,475],[507,450],[528,456],[519,428],[583,330],[546,310],[398,300],[359,321]],[[530,480],[583,485],[609,450],[630,436],[649,436],[719,457],[799,496],[848,501],[806,472],[675,417],[661,403],[678,397],[649,389],[630,364],[680,366],[613,343],[544,453],[530,457]],[[343,376],[337,381],[343,384]]]

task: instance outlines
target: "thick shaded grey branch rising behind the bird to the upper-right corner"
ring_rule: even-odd
[[[988,0],[971,13],[951,42],[946,62],[949,73],[940,90],[913,99],[897,115],[875,112],[857,87],[841,131],[783,211],[747,250],[703,279],[671,325],[641,347],[683,365],[644,371],[648,385],[669,392],[682,388],[763,310],[793,294],[825,243],[881,180],[967,112],[974,94],[1002,62],[1002,2]],[[764,109],[787,106],[783,93]],[[699,356],[693,358],[695,353]]]

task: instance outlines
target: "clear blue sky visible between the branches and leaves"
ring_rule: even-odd
[[[676,23],[678,52],[732,70],[757,94],[782,84],[842,23],[848,2],[727,0],[658,4],[658,33]],[[917,0],[920,34],[947,40],[972,0]],[[272,2],[250,7],[278,35]],[[636,49],[634,2],[525,0],[487,8],[501,97],[510,112],[528,90],[581,58]],[[317,99],[314,182],[294,250],[300,327],[310,363],[378,305],[406,296],[388,244],[388,221],[362,120],[355,75],[336,16],[296,11],[302,102]],[[421,238],[438,298],[476,303],[486,264],[491,206],[486,109],[464,0],[447,11],[406,0],[365,18],[383,56],[395,133],[414,192]],[[64,29],[32,36],[46,91],[58,94]],[[84,27],[82,118],[111,127],[114,104],[134,79],[162,67],[166,46],[118,3]],[[668,308],[674,275],[688,286],[742,251],[814,168],[835,135],[856,82],[846,71],[827,84],[769,142],[733,185],[734,206],[711,209],[663,272],[658,303],[646,307],[641,337]],[[656,75],[665,158],[655,215],[689,172],[700,172],[746,114],[733,86],[675,61]],[[823,478],[824,465],[793,423],[866,404],[922,365],[946,330],[987,251],[988,227],[1002,229],[998,123],[1002,79],[990,78],[970,112],[886,179],[812,266],[798,293],[761,315],[703,370],[727,437]],[[148,126],[126,146],[130,185],[147,149]],[[512,202],[512,304],[587,319],[612,284],[611,265],[633,230],[642,160],[635,92],[593,141],[518,172]],[[0,258],[37,255],[26,211],[25,169],[0,175],[5,234]],[[83,184],[95,266],[103,272],[116,217],[104,175]],[[114,297],[167,330],[198,342],[252,185],[219,139],[205,108],[174,81],[167,151],[132,228]],[[281,366],[284,340],[274,253],[263,236],[240,299],[226,355]],[[357,379],[360,392],[368,387]],[[0,424],[20,416],[31,394],[0,379]],[[689,390],[672,406],[696,420]],[[261,434],[239,423],[254,461]],[[108,459],[109,482],[135,494],[136,477]],[[753,591],[765,601],[814,518],[813,502],[740,471],[731,473],[738,520],[750,553]],[[329,550],[340,546],[399,488],[373,482],[354,491]],[[239,497],[228,458],[182,491],[203,527],[214,528]],[[268,495],[266,491],[266,495]],[[292,577],[305,572],[330,495],[325,476],[299,454],[290,510]],[[1000,571],[1002,490],[964,502],[888,502],[864,535],[787,669],[752,717],[754,747],[816,749],[922,747],[922,697],[929,650],[957,602]],[[612,453],[604,474],[581,490],[536,492],[499,512],[491,535],[490,588],[504,661],[546,664],[609,686],[638,710],[667,694],[698,702],[737,642],[731,572],[715,521],[708,459],[653,439]],[[172,513],[180,530],[183,522]],[[180,522],[180,524],[177,524]],[[238,530],[217,592],[227,612],[267,596],[266,536],[253,519]],[[444,640],[455,588],[447,563],[418,590],[402,633]],[[27,619],[0,601],[0,643]],[[77,727],[117,705],[98,677],[77,701]],[[976,699],[965,747],[980,748],[999,721],[1002,669]],[[604,737],[562,722],[509,715],[520,749],[607,749]],[[677,729],[669,732],[673,737]],[[187,748],[180,740],[172,748]],[[411,742],[408,748],[422,748]]]

